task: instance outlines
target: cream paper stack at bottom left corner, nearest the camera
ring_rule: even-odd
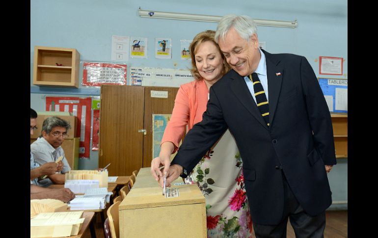
[[[30,238],[78,235],[85,219],[82,218],[82,213],[82,211],[39,213],[30,219]]]

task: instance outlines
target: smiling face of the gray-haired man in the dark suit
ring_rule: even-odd
[[[219,38],[219,48],[227,63],[240,76],[247,76],[255,72],[260,62],[259,41],[256,34],[252,34],[249,42],[240,37],[232,27],[228,30],[224,40]]]

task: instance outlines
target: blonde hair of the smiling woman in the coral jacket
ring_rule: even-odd
[[[220,48],[218,44],[215,42],[215,31],[214,30],[206,30],[198,33],[196,36],[194,36],[193,41],[190,43],[189,51],[190,51],[190,57],[191,57],[191,69],[190,73],[193,75],[194,79],[200,80],[202,79],[201,75],[198,72],[197,66],[195,65],[195,52],[201,43],[206,41],[211,41],[216,45],[216,48],[218,49],[220,56],[222,57],[223,61],[223,70],[222,75],[225,75],[231,67],[226,62],[226,59],[224,58],[224,55],[220,51]]]

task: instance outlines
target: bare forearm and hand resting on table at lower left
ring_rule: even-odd
[[[69,188],[47,188],[30,184],[30,200],[46,198],[68,203],[75,198],[75,194]]]

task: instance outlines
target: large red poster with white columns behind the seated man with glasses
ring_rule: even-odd
[[[89,159],[92,98],[46,97],[46,111],[68,111],[78,117],[79,157]]]

